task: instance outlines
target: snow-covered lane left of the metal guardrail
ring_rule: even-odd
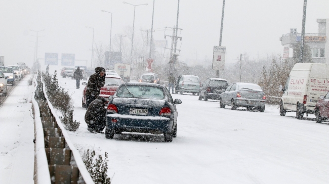
[[[31,104],[34,89],[22,79],[0,106],[0,183],[33,183],[34,129]]]

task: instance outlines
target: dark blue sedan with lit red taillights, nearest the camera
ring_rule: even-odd
[[[152,83],[124,83],[119,86],[106,112],[105,137],[114,133],[141,132],[162,134],[165,142],[177,136],[177,109],[179,99],[173,100],[168,89]]]

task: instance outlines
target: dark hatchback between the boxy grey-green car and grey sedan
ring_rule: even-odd
[[[227,80],[222,78],[208,78],[204,81],[203,85],[201,85],[199,100],[208,101],[208,99],[212,100],[220,100],[221,94],[228,86]]]

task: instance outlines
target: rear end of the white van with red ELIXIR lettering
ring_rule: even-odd
[[[314,111],[315,104],[321,95],[329,89],[329,65],[313,63],[307,93],[306,109]]]

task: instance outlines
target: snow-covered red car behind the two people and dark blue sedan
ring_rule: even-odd
[[[104,87],[101,88],[101,92],[99,94],[100,97],[104,97],[108,99],[109,96],[114,95],[116,89],[124,83],[124,81],[119,76],[110,75],[105,77],[105,84]],[[84,85],[84,83],[83,83]],[[87,90],[87,83],[85,83],[85,88],[83,91],[83,101],[82,101],[82,107],[86,108],[86,90]]]

